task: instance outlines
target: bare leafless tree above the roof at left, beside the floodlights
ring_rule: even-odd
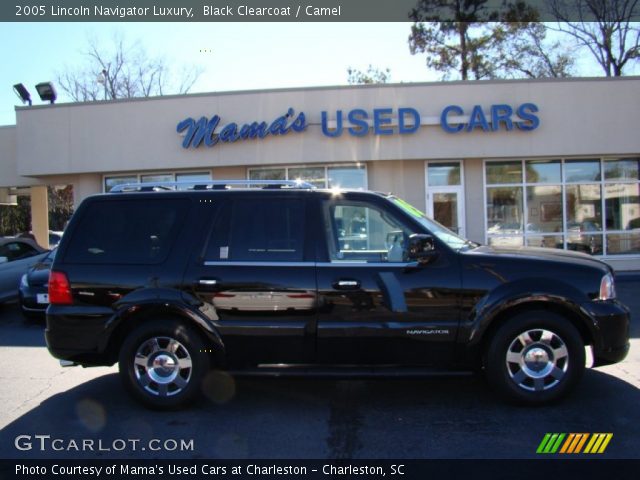
[[[84,55],[85,65],[57,78],[60,88],[74,101],[187,93],[203,71],[185,67],[176,77],[165,59],[150,57],[139,41],[127,44],[117,35],[111,46],[89,39]]]

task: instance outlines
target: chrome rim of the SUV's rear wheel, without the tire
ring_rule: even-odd
[[[171,337],[153,337],[140,345],[133,368],[138,384],[157,397],[182,392],[193,370],[189,351]]]

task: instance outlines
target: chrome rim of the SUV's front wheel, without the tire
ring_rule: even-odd
[[[509,377],[519,388],[542,392],[555,387],[567,374],[569,351],[558,334],[531,329],[513,339],[506,365]]]

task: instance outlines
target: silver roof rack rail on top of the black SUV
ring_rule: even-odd
[[[113,187],[109,193],[159,192],[166,190],[230,190],[232,188],[262,189],[315,189],[315,185],[300,180],[206,180],[182,182],[123,183]]]

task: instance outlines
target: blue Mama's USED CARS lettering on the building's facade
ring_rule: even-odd
[[[439,125],[448,133],[496,132],[514,129],[532,131],[540,125],[538,107],[533,103],[518,106],[507,104],[490,105],[483,108],[475,105],[465,111],[458,105],[446,106],[437,117],[424,117],[411,107],[376,108],[368,111],[354,108],[343,112],[337,110],[332,118],[329,113],[321,113],[322,134],[336,138],[342,135],[364,137],[367,135],[408,135],[418,131],[423,125]],[[334,112],[332,112],[334,113]],[[223,124],[219,115],[211,118],[185,118],[176,127],[184,135],[183,148],[198,148],[203,144],[213,147],[219,143],[235,143],[243,140],[261,139],[268,136],[281,136],[289,133],[303,133],[309,126],[304,112],[296,114],[289,108],[270,122],[251,123],[230,122]]]

